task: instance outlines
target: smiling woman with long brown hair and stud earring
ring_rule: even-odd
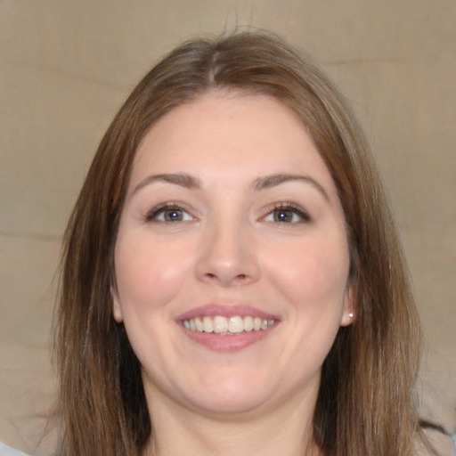
[[[277,37],[142,79],[65,236],[61,454],[409,455],[419,320],[342,96]]]

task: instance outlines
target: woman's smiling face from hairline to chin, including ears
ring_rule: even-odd
[[[314,400],[353,312],[335,184],[297,117],[209,93],[144,137],[120,219],[114,317],[149,401],[211,414]]]

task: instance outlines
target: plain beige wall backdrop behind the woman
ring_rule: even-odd
[[[0,440],[38,453],[54,395],[47,346],[61,234],[104,129],[159,55],[236,26],[303,46],[353,101],[428,337],[423,413],[456,431],[454,0],[4,0]]]

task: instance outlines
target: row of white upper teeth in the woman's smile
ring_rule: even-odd
[[[215,317],[196,317],[183,321],[183,326],[187,330],[197,332],[215,332],[221,335],[239,334],[243,331],[259,331],[267,330],[273,326],[274,320],[266,320],[260,317],[247,315],[240,317],[234,315],[230,318],[225,318],[220,315]]]

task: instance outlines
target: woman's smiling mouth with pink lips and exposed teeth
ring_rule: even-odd
[[[236,351],[265,338],[280,319],[247,306],[206,305],[180,315],[176,322],[200,345]]]

